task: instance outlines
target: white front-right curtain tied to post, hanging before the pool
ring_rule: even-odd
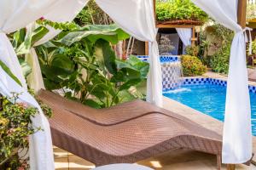
[[[237,0],[192,0],[214,20],[236,32],[230,52],[223,163],[243,163],[252,157],[251,109],[247,82],[244,31],[237,24]]]

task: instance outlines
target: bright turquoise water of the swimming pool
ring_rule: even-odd
[[[220,85],[186,85],[181,89],[171,90],[164,96],[177,100],[189,107],[224,121],[226,87]],[[250,93],[252,109],[252,129],[256,136],[256,94]]]

